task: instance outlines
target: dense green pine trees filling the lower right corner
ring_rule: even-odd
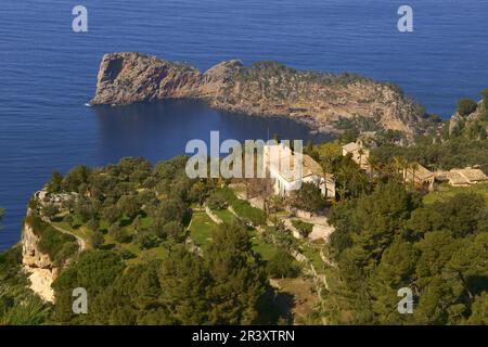
[[[334,323],[474,324],[486,321],[488,208],[478,194],[433,204],[400,183],[334,206],[331,247],[341,285],[325,298]],[[413,285],[414,283],[414,285]],[[412,314],[400,314],[398,288],[414,287]],[[348,317],[342,317],[345,300]],[[442,303],[439,305],[439,303]],[[338,314],[337,314],[338,313]]]

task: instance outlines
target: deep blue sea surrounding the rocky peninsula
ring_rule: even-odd
[[[413,8],[414,31],[397,30]],[[88,33],[72,9],[88,9]],[[2,0],[0,2],[0,250],[20,240],[29,195],[56,169],[123,156],[156,162],[190,139],[308,138],[285,119],[246,117],[191,101],[86,107],[105,52],[140,51],[206,69],[222,60],[275,60],[397,82],[449,116],[488,88],[486,0]]]

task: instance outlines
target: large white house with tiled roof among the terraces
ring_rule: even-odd
[[[295,170],[295,164],[298,165]],[[273,191],[277,195],[290,195],[300,189],[304,182],[313,183],[320,188],[322,195],[335,198],[335,180],[332,175],[324,174],[322,167],[309,155],[294,155],[284,144],[265,145],[264,169],[266,177],[273,180]]]

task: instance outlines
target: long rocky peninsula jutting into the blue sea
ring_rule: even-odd
[[[424,111],[398,88],[351,74],[299,72],[274,62],[220,63],[205,73],[139,53],[103,56],[91,104],[125,105],[169,98],[205,99],[217,108],[290,116],[337,132],[341,118],[372,119],[383,129],[422,132]]]

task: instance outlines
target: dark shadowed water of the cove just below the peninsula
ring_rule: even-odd
[[[99,120],[102,157],[111,162],[121,156],[144,156],[152,162],[184,154],[188,141],[202,139],[209,145],[210,131],[227,139],[281,139],[323,141],[330,136],[285,117],[258,117],[220,112],[198,100],[166,100],[129,106],[94,106]]]

